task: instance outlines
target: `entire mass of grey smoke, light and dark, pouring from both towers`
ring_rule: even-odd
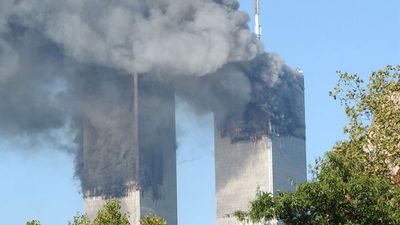
[[[134,157],[134,73],[168,84],[148,85],[158,91],[144,91],[144,108],[164,107],[168,101],[154,96],[170,93],[173,85],[197,111],[224,118],[219,126],[227,130],[229,121],[249,121],[257,109],[261,119],[281,123],[282,133],[294,132],[303,124],[296,119],[299,100],[290,96],[302,88],[302,79],[277,56],[262,53],[238,6],[237,0],[2,0],[1,137],[54,140],[55,131],[67,129],[74,134],[67,137],[71,145],[60,148],[75,152],[84,191],[119,192],[126,180],[138,179],[154,187],[154,180],[162,183],[157,169],[123,173],[138,166],[126,163]],[[284,120],[289,117],[294,119]],[[161,132],[165,121],[154,120],[146,129]],[[266,130],[254,126],[249,129]],[[96,157],[86,170],[85,127],[101,131],[93,132]],[[167,138],[160,136],[158,144]],[[146,154],[153,163],[162,161],[157,152]]]

